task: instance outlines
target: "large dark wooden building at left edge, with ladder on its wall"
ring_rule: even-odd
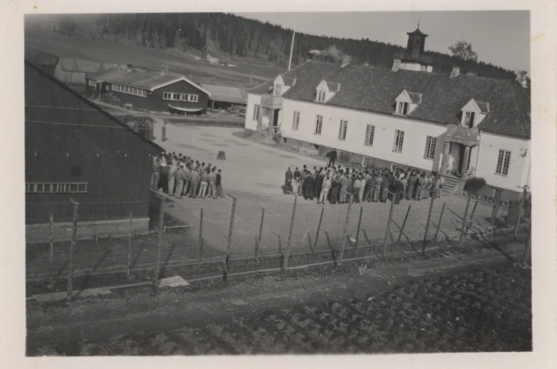
[[[162,147],[33,64],[25,64],[27,242],[69,239],[79,203],[78,238],[126,234],[149,225],[153,156]],[[71,199],[71,200],[70,200]]]

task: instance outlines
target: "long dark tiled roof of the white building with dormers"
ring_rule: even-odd
[[[365,110],[373,113],[395,113],[395,98],[401,91],[419,91],[422,102],[410,118],[441,124],[460,124],[463,106],[471,100],[489,103],[490,113],[478,126],[480,130],[529,137],[530,93],[517,82],[479,76],[414,72],[400,69],[369,68],[350,65],[307,62],[286,76],[296,75],[296,85],[283,94],[283,98],[315,101],[315,87],[325,78],[338,81],[342,89],[327,105]],[[265,94],[272,82],[257,86],[249,93]]]

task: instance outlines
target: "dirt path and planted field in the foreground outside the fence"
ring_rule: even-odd
[[[510,244],[505,247],[505,252],[510,256],[519,258],[522,255],[522,249],[523,244]],[[480,249],[471,254],[441,254],[434,259],[426,261],[413,260],[375,266],[351,264],[337,269],[309,271],[308,273],[291,277],[269,276],[244,281],[230,281],[227,285],[219,284],[206,287],[203,285],[193,285],[185,289],[162,291],[157,295],[145,291],[130,291],[128,295],[112,295],[111,297],[76,300],[69,305],[65,303],[45,305],[39,302],[29,302],[27,305],[27,354],[28,356],[79,356],[250,353],[254,352],[254,347],[266,348],[264,351],[268,353],[279,353],[317,352],[327,349],[327,347],[335,346],[334,342],[331,341],[331,337],[329,337],[327,344],[319,344],[324,339],[322,337],[324,331],[321,333],[315,331],[317,336],[310,335],[308,336],[309,338],[306,337],[305,339],[299,336],[299,334],[304,334],[304,332],[307,333],[314,329],[325,329],[325,331],[332,332],[335,337],[334,339],[343,340],[344,344],[341,346],[343,349],[346,349],[347,352],[354,352],[359,344],[356,344],[356,341],[354,341],[355,346],[347,343],[351,342],[351,337],[355,339],[354,337],[356,336],[351,336],[351,334],[357,334],[357,332],[354,333],[355,327],[359,327],[356,331],[367,327],[364,331],[369,332],[373,324],[381,324],[381,320],[386,320],[373,317],[376,314],[373,311],[367,313],[358,313],[356,311],[362,309],[369,310],[365,305],[371,303],[374,299],[381,302],[387,298],[398,298],[386,295],[386,293],[399,290],[401,286],[405,288],[404,286],[411,285],[415,286],[415,288],[420,288],[423,284],[422,281],[427,281],[429,278],[437,278],[434,280],[438,282],[442,280],[444,285],[446,285],[449,283],[448,281],[454,280],[454,276],[470,273],[472,273],[471,277],[468,276],[466,277],[468,279],[464,279],[463,286],[468,289],[472,288],[469,291],[473,291],[477,290],[478,287],[474,287],[470,283],[480,282],[471,282],[472,279],[470,278],[476,278],[478,276],[477,273],[480,273],[480,280],[486,280],[487,282],[491,280],[491,283],[498,283],[497,280],[495,282],[493,280],[494,275],[492,271],[495,269],[504,271],[506,273],[505,278],[507,279],[510,278],[508,276],[512,276],[513,281],[514,278],[519,278],[519,276],[515,276],[515,273],[521,271],[521,269],[512,266],[507,257],[503,256],[499,251]],[[420,296],[420,299],[423,297],[428,301],[429,305],[432,304],[432,298],[438,299],[433,300],[433,305],[428,305],[431,309],[444,306],[439,305],[444,300],[439,296],[435,296],[437,295],[436,291],[438,291],[438,288],[434,287],[434,285],[432,288],[435,289],[432,289],[429,293],[426,290],[424,292],[426,295]],[[524,293],[527,293],[529,283],[525,282],[523,285],[526,287],[521,288],[526,288]],[[528,314],[529,307],[526,305],[523,307],[522,304],[525,302],[523,300],[519,301],[523,297],[522,292],[515,294],[514,292],[518,290],[512,290],[516,290],[517,287],[518,284],[515,284],[514,288],[506,287],[505,289],[507,290],[498,291],[499,294],[506,296],[503,300],[507,299],[504,307],[497,307],[497,310],[501,310],[505,317],[511,316],[515,311],[517,314]],[[489,293],[489,291],[487,292]],[[449,300],[462,298],[458,297],[458,293],[456,295],[455,293],[450,293],[450,296],[446,296],[446,298],[449,298]],[[467,298],[466,292],[461,292],[461,294],[463,294],[464,298]],[[427,297],[429,295],[432,297]],[[513,296],[518,300],[508,300]],[[480,296],[480,299],[483,299],[482,301],[485,305],[490,299],[493,300],[493,297],[487,297],[486,299]],[[422,309],[420,301],[418,301],[418,297],[416,297],[415,301],[410,300],[410,305],[412,303],[418,305],[418,307],[410,307],[408,305],[410,310],[417,311],[416,309],[418,308]],[[392,305],[392,308],[388,309],[389,311],[400,310],[399,307],[403,306],[397,305],[398,303],[394,300],[393,303],[395,305]],[[406,303],[404,302],[404,304]],[[466,303],[468,304],[469,302]],[[458,306],[458,302],[456,302],[457,309]],[[500,346],[497,346],[495,342],[485,341],[484,339],[481,343],[484,346],[478,343],[472,347],[473,343],[466,341],[465,336],[467,334],[459,336],[462,332],[460,332],[461,327],[456,322],[458,319],[468,319],[466,320],[466,324],[468,324],[466,329],[474,329],[474,326],[470,324],[480,323],[483,324],[483,327],[493,328],[494,331],[499,329],[497,325],[493,327],[490,325],[499,323],[489,319],[486,321],[486,317],[469,316],[473,312],[478,312],[478,309],[474,310],[473,306],[469,307],[471,309],[469,311],[455,312],[456,315],[451,316],[450,319],[456,319],[454,322],[457,324],[457,327],[454,327],[455,331],[443,331],[446,323],[439,321],[437,317],[433,317],[433,321],[429,322],[430,325],[426,328],[431,330],[429,334],[433,334],[433,336],[439,334],[439,329],[441,329],[441,334],[438,337],[446,340],[446,346],[432,346],[432,348],[437,347],[441,351],[497,351],[497,349],[504,350],[508,347],[526,347],[523,349],[528,349],[529,324],[527,322],[523,322],[517,328],[519,336],[525,337],[525,344],[519,343],[516,341],[518,338],[514,337],[514,340],[506,339],[509,341],[509,345],[514,344],[514,346],[505,346],[507,342],[504,344],[499,342]],[[492,305],[485,306],[490,311],[494,308]],[[354,325],[351,325],[349,320],[346,320],[348,318],[342,312],[344,307],[350,311],[350,317],[353,317],[353,314],[364,314],[364,321],[361,320],[361,317],[354,317],[354,319],[359,320],[358,322],[354,321]],[[318,311],[316,312],[315,309]],[[335,312],[334,314],[338,314],[339,317],[330,318],[333,319],[332,321],[329,318],[323,318],[325,321],[317,319],[317,317],[327,317],[330,315],[330,310]],[[441,310],[446,310],[446,308]],[[296,314],[293,312],[296,312]],[[300,312],[302,312],[301,315]],[[426,312],[423,312],[423,319],[427,321],[427,319],[432,317],[425,317]],[[298,318],[302,319],[302,316],[306,317],[306,320],[317,319],[318,322],[314,322],[315,324],[310,324],[310,326],[306,327],[302,321],[296,320]],[[334,316],[336,317],[337,315]],[[294,324],[298,327],[298,331],[292,331],[289,334],[288,329],[291,329],[290,326],[287,324],[286,331],[284,331],[284,326],[281,323],[277,323],[278,328],[273,328],[273,322],[275,322],[273,319],[278,319],[276,317],[282,317],[281,319],[288,318],[289,321],[293,319],[292,322],[287,323]],[[395,319],[395,322],[399,322],[397,317],[392,319]],[[448,318],[444,317],[443,319]],[[261,324],[266,322],[265,328],[259,327],[257,322],[261,322]],[[401,320],[400,322],[403,321]],[[422,322],[422,318],[418,322]],[[365,327],[356,323],[364,324]],[[453,327],[451,324],[449,324],[449,327]],[[242,327],[244,327],[243,330]],[[354,329],[349,329],[349,327]],[[261,331],[260,328],[263,330]],[[381,329],[386,328],[379,327],[376,329],[379,334]],[[397,329],[400,330],[401,327]],[[421,331],[422,329],[418,328],[417,330]],[[423,328],[423,331],[425,330]],[[386,332],[388,334],[388,331]],[[261,337],[268,339],[268,333],[274,339],[278,339],[278,341],[258,342],[258,334],[263,334]],[[531,331],[529,334],[531,334]],[[237,341],[233,337],[235,335],[238,335]],[[514,335],[516,335],[516,332]],[[283,337],[282,341],[280,337]],[[288,337],[291,338],[289,339]],[[294,344],[294,341],[297,339],[296,337],[302,339],[305,344],[300,343],[303,346],[289,346]],[[285,339],[286,341],[284,341]],[[365,346],[374,348],[376,351],[385,352],[385,350],[388,351],[389,347],[395,351],[413,351],[417,349],[408,348],[405,346],[406,344],[397,343],[398,338],[395,336],[377,336],[376,334],[371,336],[371,339],[373,342],[383,343],[381,344],[383,346]],[[467,343],[463,343],[462,340],[465,340]],[[365,343],[364,341],[362,342]],[[434,341],[431,342],[432,345],[435,345]],[[317,346],[311,346],[312,343]],[[328,344],[333,345],[327,346]],[[424,347],[427,348],[427,345]]]

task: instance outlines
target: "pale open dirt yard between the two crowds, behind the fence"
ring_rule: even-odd
[[[232,240],[232,254],[246,256],[253,253],[254,237],[259,234],[261,211],[265,208],[263,236],[261,249],[276,252],[288,241],[291,227],[294,196],[284,195],[281,186],[284,172],[291,167],[308,168],[324,166],[325,161],[304,157],[293,152],[285,152],[274,147],[264,146],[255,142],[242,140],[232,135],[237,128],[203,127],[192,125],[167,125],[167,140],[161,140],[162,120],[155,118],[155,142],[168,152],[182,153],[196,160],[211,163],[223,170],[223,188],[225,193],[237,198],[235,209],[235,223]],[[218,152],[226,154],[226,160],[216,160]],[[189,199],[173,201],[167,211],[174,217],[189,225],[198,227],[201,209],[203,209],[203,237],[205,244],[214,249],[224,251],[227,247],[227,234],[230,226],[230,212],[232,198],[224,199]],[[347,215],[347,205],[317,205],[317,200],[304,200],[298,197],[296,216],[293,225],[293,247],[308,247],[310,239],[315,241],[320,212],[323,210],[319,244],[317,249],[331,247],[331,244],[342,242],[344,222]],[[443,210],[439,237],[457,237],[461,228],[462,217],[466,208],[466,199],[458,196],[446,196],[436,200],[432,210],[429,236],[434,237]],[[408,206],[412,205],[405,236],[407,239],[423,239],[429,200],[403,201],[393,209],[393,225],[388,237],[396,240],[400,227],[403,225]],[[471,215],[471,203],[468,215]],[[366,242],[381,243],[385,237],[390,202],[354,204],[348,223],[349,235],[356,237],[361,211],[361,234]],[[492,207],[478,203],[473,217],[471,232],[480,230],[490,220]],[[407,237],[407,238],[406,238]]]

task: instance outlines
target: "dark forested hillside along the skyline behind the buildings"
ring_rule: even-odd
[[[106,39],[142,47],[193,48],[201,52],[218,52],[224,59],[268,61],[279,66],[288,64],[292,30],[225,13],[142,13],[79,16],[50,16],[47,26],[57,33],[84,38]],[[370,35],[373,38],[373,35]],[[353,63],[390,67],[395,52],[402,46],[376,42],[368,38],[352,40],[317,35],[296,34],[293,64],[304,62],[310,50],[338,50],[331,54],[349,55]],[[332,50],[334,50],[332,49]],[[434,57],[434,71],[450,72],[454,65],[463,73],[495,78],[514,78],[514,72],[493,64],[463,60],[439,52],[426,52]]]

